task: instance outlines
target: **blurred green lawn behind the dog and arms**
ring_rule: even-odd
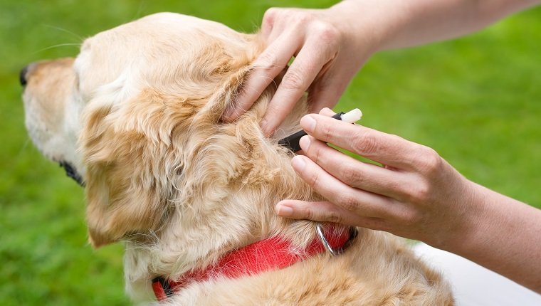
[[[254,31],[271,6],[333,1],[0,0],[0,305],[127,305],[122,246],[87,243],[83,190],[34,149],[19,70],[158,11]],[[63,44],[68,44],[63,46]],[[75,45],[70,45],[75,44]],[[469,179],[541,208],[541,8],[446,43],[374,56],[337,110],[438,151]]]

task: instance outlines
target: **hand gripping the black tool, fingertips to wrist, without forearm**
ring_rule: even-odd
[[[300,141],[305,156],[293,157],[292,165],[328,201],[283,200],[278,215],[389,231],[440,248],[471,233],[475,210],[482,209],[468,206],[478,185],[433,149],[334,120],[328,109],[320,114],[300,121],[309,135]],[[384,166],[359,162],[326,142]]]

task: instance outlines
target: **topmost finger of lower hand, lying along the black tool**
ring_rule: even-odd
[[[397,169],[415,169],[419,157],[423,156],[424,146],[421,144],[327,116],[305,115],[300,120],[300,126],[323,142]]]

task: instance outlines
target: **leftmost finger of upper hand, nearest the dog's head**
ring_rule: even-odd
[[[231,122],[246,112],[263,93],[263,90],[288,65],[298,48],[300,48],[298,39],[295,43],[295,39],[291,35],[278,36],[253,62],[253,70],[243,83],[233,105],[224,112],[223,120]]]

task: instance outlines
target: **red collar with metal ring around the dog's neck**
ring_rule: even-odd
[[[191,270],[179,280],[166,280],[158,277],[152,280],[152,289],[157,300],[166,300],[174,291],[181,290],[192,282],[201,282],[211,278],[240,278],[244,275],[256,275],[269,270],[288,267],[310,256],[322,253],[330,248],[340,253],[349,246],[357,230],[344,231],[341,227],[330,226],[323,230],[320,239],[314,239],[304,250],[293,250],[291,243],[278,236],[252,243],[226,253],[216,265],[200,270]],[[327,246],[325,246],[325,243]],[[331,252],[332,253],[332,252]]]

